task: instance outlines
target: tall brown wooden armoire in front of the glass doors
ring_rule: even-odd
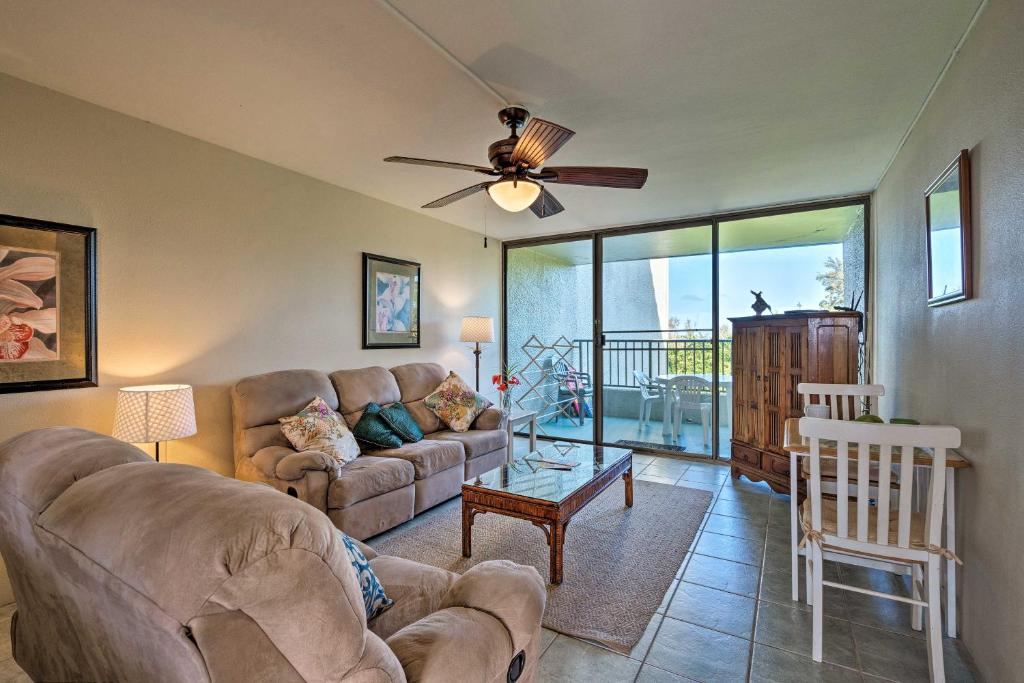
[[[803,416],[801,382],[856,384],[860,314],[810,311],[732,323],[732,476],[790,492],[786,418]]]

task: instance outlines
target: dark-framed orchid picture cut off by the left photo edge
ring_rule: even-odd
[[[0,215],[0,393],[96,386],[96,231]]]

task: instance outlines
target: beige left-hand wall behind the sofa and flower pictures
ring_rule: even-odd
[[[185,382],[199,434],[167,457],[230,474],[239,378],[429,359],[469,379],[459,321],[499,315],[497,241],[3,75],[0,213],[97,229],[100,380],[0,394],[0,440],[110,433],[117,387]],[[360,350],[364,251],[423,264],[422,349]]]

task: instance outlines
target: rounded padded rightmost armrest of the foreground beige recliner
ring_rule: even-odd
[[[490,614],[505,626],[518,652],[539,633],[547,596],[534,567],[489,560],[459,577],[441,600],[441,609],[469,607]]]

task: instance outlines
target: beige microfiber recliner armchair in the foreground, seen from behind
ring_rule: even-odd
[[[82,429],[0,443],[11,644],[33,680],[534,680],[536,569],[367,552],[395,601],[369,624],[340,535],[305,503]]]

